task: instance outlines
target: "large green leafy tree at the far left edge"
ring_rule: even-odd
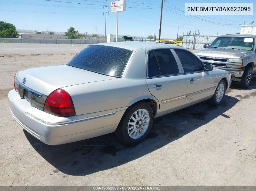
[[[11,23],[0,21],[0,37],[4,38],[18,38],[16,27]]]

